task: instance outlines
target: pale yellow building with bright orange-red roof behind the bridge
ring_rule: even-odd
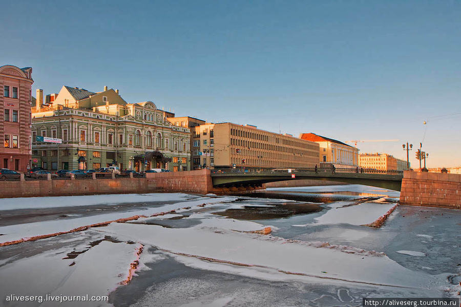
[[[319,144],[319,159],[322,167],[329,167],[331,164],[339,168],[354,168],[359,166],[359,149],[355,147],[314,133],[303,133],[299,137],[300,139]]]

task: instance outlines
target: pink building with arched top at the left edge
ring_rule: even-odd
[[[32,83],[32,68],[0,66],[0,168],[24,172],[31,165]]]

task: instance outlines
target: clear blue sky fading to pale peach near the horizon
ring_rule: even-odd
[[[461,166],[459,1],[10,1],[0,65],[177,116]],[[426,124],[424,124],[426,122]],[[353,143],[349,143],[354,146]]]

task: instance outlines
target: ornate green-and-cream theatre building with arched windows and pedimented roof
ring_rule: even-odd
[[[48,98],[50,96],[50,98]],[[37,90],[32,111],[32,165],[49,170],[118,166],[190,170],[190,130],[172,125],[152,101],[127,103],[118,90],[63,86]],[[46,103],[48,101],[48,103]],[[174,115],[173,115],[174,116]],[[62,143],[37,141],[37,136]]]

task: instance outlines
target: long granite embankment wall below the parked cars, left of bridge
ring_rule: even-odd
[[[146,178],[0,181],[0,198],[153,192],[217,193],[255,188],[214,188],[210,171],[147,173]]]

